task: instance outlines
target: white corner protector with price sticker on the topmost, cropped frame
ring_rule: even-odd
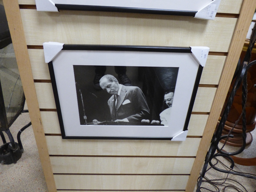
[[[195,18],[214,20],[220,5],[220,0],[214,0],[205,7],[198,10]]]

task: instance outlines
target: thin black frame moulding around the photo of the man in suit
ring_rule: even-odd
[[[191,47],[120,46],[120,45],[65,45],[64,44],[61,51],[132,52],[134,54],[136,54],[136,52],[137,53],[152,52],[154,54],[155,53],[193,54],[191,51]],[[208,52],[207,52],[207,54],[208,54]],[[120,139],[121,140],[123,140],[123,139],[125,139],[125,140],[172,140],[173,139],[173,137],[169,137],[169,136],[166,136],[166,137],[150,136],[149,137],[149,136],[84,136],[84,135],[82,135],[82,136],[72,135],[71,136],[71,135],[67,135],[65,132],[65,126],[63,124],[63,115],[62,115],[62,111],[67,110],[67,109],[63,109],[63,107],[61,107],[61,102],[59,99],[60,93],[58,91],[60,89],[60,87],[58,87],[57,82],[56,82],[56,71],[55,71],[56,69],[54,69],[54,62],[55,62],[55,59],[53,61],[50,61],[48,63],[48,67],[49,67],[49,72],[50,72],[52,88],[53,88],[53,92],[54,92],[54,98],[55,98],[55,102],[56,102],[56,109],[57,109],[58,119],[59,119],[59,123],[60,123],[61,135],[62,135],[63,139],[115,139],[115,140],[116,139],[118,139],[118,140],[120,140]],[[198,63],[195,81],[193,83],[193,91],[191,93],[191,97],[189,98],[189,106],[188,106],[187,112],[185,114],[186,118],[185,118],[185,122],[184,122],[184,127],[182,127],[182,130],[181,130],[183,132],[188,130],[188,123],[189,123],[193,105],[195,102],[196,93],[198,90],[202,70],[203,70],[203,66],[201,66],[200,63]],[[74,71],[70,71],[70,73],[73,74]],[[88,126],[88,125],[86,125],[86,126]],[[101,125],[101,126],[105,126],[105,125]],[[112,126],[112,127],[114,127],[114,126]],[[136,126],[133,126],[133,127],[136,127]],[[138,126],[138,127],[140,127],[140,126]],[[70,127],[70,129],[72,129],[72,128]]]

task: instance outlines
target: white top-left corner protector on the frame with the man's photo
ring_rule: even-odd
[[[43,43],[45,62],[49,63],[52,61],[56,55],[63,49],[64,43],[58,42],[45,42]]]

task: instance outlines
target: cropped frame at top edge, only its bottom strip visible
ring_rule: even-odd
[[[220,0],[36,0],[38,11],[84,10],[192,16],[214,20]]]

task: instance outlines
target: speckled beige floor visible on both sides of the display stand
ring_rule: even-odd
[[[18,131],[28,122],[30,122],[28,113],[20,115],[14,124],[10,127],[13,136],[16,137]],[[256,138],[256,131],[253,131],[253,135],[254,138]],[[17,141],[17,139],[15,140]],[[23,143],[24,153],[19,161],[16,164],[10,165],[0,164],[0,192],[47,192],[48,190],[44,174],[42,172],[42,166],[39,159],[32,126],[28,127],[21,134],[21,141]],[[0,141],[0,145],[2,145],[2,140]],[[256,156],[256,139],[253,140],[253,143],[247,147],[243,154],[247,157]],[[222,159],[221,161],[225,161],[225,159]],[[234,169],[240,172],[256,174],[256,166],[235,165]],[[221,179],[226,178],[227,174],[222,174],[211,169],[207,172],[206,177],[210,179]],[[254,179],[248,179],[234,175],[229,175],[228,178],[232,178],[240,182],[248,192],[254,192],[256,189],[256,180]],[[227,183],[232,183],[234,185],[236,184],[236,182],[233,181],[228,181]],[[202,186],[214,191],[218,191],[207,183],[203,183]],[[242,189],[241,186],[240,188]],[[202,189],[202,191],[208,190]],[[226,192],[233,191],[236,190],[226,190]],[[241,191],[244,192],[246,190],[242,189]]]

